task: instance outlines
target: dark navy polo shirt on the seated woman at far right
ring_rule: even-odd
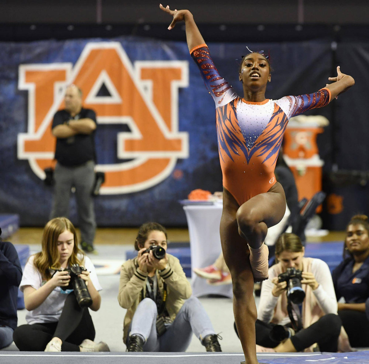
[[[364,303],[369,297],[369,257],[352,273],[354,258],[345,259],[332,273],[337,300],[345,298],[346,303]]]

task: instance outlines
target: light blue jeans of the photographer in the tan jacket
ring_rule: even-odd
[[[133,316],[129,335],[138,334],[145,339],[144,351],[181,352],[186,351],[194,333],[202,342],[205,336],[215,334],[209,316],[196,297],[184,302],[175,320],[158,337],[156,333],[158,309],[150,298],[143,299]],[[127,345],[129,342],[127,338]]]

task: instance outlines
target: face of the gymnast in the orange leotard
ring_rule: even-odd
[[[239,80],[250,89],[257,89],[270,82],[269,63],[260,53],[250,53],[242,61]]]

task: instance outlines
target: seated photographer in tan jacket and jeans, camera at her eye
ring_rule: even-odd
[[[179,260],[166,253],[165,228],[148,222],[138,230],[138,255],[122,264],[118,301],[127,309],[127,351],[186,351],[192,333],[206,351],[221,351],[218,336]],[[187,299],[187,301],[185,301]]]

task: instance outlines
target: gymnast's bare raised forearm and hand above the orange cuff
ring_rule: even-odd
[[[197,45],[205,43],[199,28],[197,28],[197,25],[193,20],[193,15],[189,10],[170,10],[169,5],[163,7],[162,4],[160,4],[160,8],[173,16],[173,20],[168,27],[169,30],[173,29],[177,22],[184,21],[184,24],[186,25],[186,38],[189,51]]]

